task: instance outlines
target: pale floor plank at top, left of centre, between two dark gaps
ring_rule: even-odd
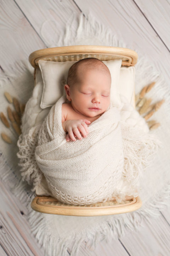
[[[74,1],[16,0],[36,32],[48,47],[56,47],[60,34],[66,30],[69,17],[80,14]],[[34,11],[33,11],[34,10]],[[73,26],[76,27],[77,22]],[[74,35],[73,35],[74,36]],[[60,46],[62,42],[60,42]]]

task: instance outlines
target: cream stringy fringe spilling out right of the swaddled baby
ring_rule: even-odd
[[[127,124],[121,126],[124,149],[124,171],[122,182],[113,196],[121,202],[124,196],[139,196],[140,180],[144,170],[155,159],[158,149],[163,147],[155,134],[145,133]],[[128,136],[127,136],[128,134]]]

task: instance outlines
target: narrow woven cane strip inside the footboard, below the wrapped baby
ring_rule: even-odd
[[[95,204],[90,204],[90,205],[83,205],[83,206],[75,206],[75,205],[69,205],[69,204],[63,204],[60,202],[50,202],[50,201],[39,201],[38,204],[40,205],[46,205],[46,206],[67,206],[67,207],[104,207],[104,206],[121,206],[125,204],[132,203],[133,199],[131,200],[125,200],[122,201],[121,203],[117,203],[116,201],[109,201],[106,203],[95,203]]]

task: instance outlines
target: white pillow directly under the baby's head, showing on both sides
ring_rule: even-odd
[[[65,94],[64,83],[67,81],[68,70],[75,62],[76,61],[50,62],[47,60],[39,60],[38,64],[44,86],[40,104],[42,109],[54,105],[57,100]],[[121,102],[118,92],[121,62],[121,59],[103,61],[111,73],[111,102],[116,106],[119,106]],[[64,81],[64,83],[62,83],[62,81]]]

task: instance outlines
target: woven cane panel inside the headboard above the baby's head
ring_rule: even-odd
[[[47,56],[42,57],[41,60],[48,60],[53,62],[66,62],[66,61],[78,61],[85,58],[97,58],[100,60],[114,60],[122,59],[123,61],[129,61],[129,58],[123,57],[121,55],[103,55],[103,54],[75,54],[75,55],[62,55],[62,56]],[[36,61],[35,61],[36,62]]]

